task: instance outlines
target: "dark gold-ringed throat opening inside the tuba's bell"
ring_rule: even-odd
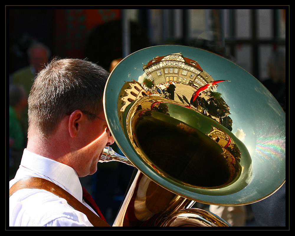
[[[171,111],[171,105],[177,111]],[[147,165],[179,184],[204,189],[231,184],[242,171],[239,146],[225,129],[217,127],[197,110],[199,119],[192,118],[194,127],[173,117],[173,112],[184,114],[188,109],[194,108],[165,98],[138,99],[126,119],[132,146]],[[211,128],[203,133],[196,128],[199,126]],[[251,162],[250,156],[244,158]]]

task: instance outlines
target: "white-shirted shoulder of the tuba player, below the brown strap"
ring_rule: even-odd
[[[9,198],[9,217],[14,226],[72,226],[88,223],[86,216],[73,209],[65,199],[43,189],[20,189],[12,194]]]

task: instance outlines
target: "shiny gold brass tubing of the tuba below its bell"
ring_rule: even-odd
[[[113,226],[230,226],[205,210],[184,209],[190,203],[138,171]]]

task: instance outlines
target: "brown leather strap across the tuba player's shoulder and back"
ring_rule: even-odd
[[[9,189],[9,197],[19,189],[44,189],[67,200],[68,204],[79,212],[83,212],[93,226],[110,226],[73,195],[46,179],[30,177],[17,181]]]

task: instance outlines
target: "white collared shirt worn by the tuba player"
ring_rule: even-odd
[[[9,188],[26,177],[40,177],[52,181],[91,209],[82,200],[78,175],[70,166],[25,149],[19,169],[14,179],[9,181]],[[73,209],[65,199],[42,189],[20,189],[9,197],[9,226],[92,225],[85,214]]]

